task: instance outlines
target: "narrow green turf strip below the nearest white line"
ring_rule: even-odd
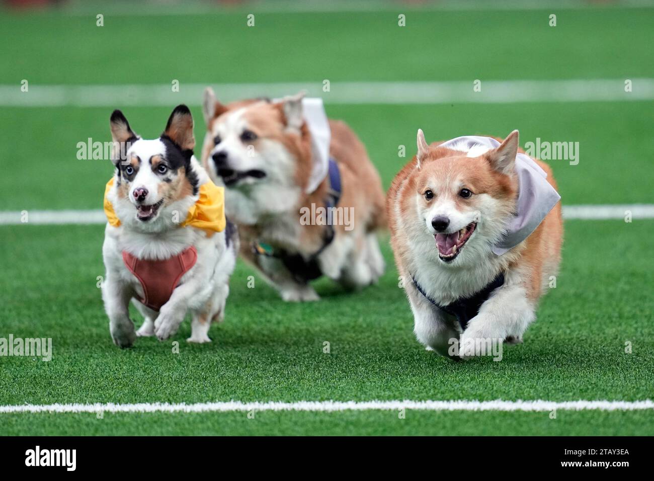
[[[3,414],[12,434],[238,436],[651,436],[647,412],[247,412],[203,414]]]

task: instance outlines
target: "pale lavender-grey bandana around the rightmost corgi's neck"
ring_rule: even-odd
[[[456,139],[442,143],[439,147],[470,152],[473,147],[496,149],[500,147],[500,142],[490,137],[469,135],[456,137]],[[517,154],[515,173],[518,178],[516,212],[509,220],[502,239],[492,247],[492,251],[496,255],[508,252],[528,238],[561,199],[559,192],[547,182],[547,172],[530,156]]]

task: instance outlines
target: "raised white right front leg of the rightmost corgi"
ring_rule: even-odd
[[[521,285],[504,285],[481,304],[470,319],[460,340],[461,357],[488,354],[488,343],[522,339],[523,332],[536,319],[536,306],[528,300]],[[490,341],[489,341],[490,340]],[[484,352],[485,351],[485,352]]]

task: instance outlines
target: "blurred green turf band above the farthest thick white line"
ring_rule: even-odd
[[[129,11],[131,5],[126,9]],[[653,77],[651,8],[4,14],[2,83],[170,84]],[[108,9],[109,10],[109,9]],[[247,14],[255,26],[247,26]],[[625,77],[627,76],[627,77]]]

